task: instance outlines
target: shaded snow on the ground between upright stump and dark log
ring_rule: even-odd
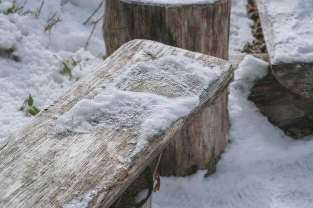
[[[311,208],[313,136],[293,140],[260,114],[247,96],[268,64],[246,56],[230,84],[230,144],[216,172],[161,177],[153,208]]]

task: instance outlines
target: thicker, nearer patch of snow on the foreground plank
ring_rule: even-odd
[[[140,138],[150,138],[187,115],[198,103],[199,97],[195,95],[168,99],[152,93],[122,91],[107,84],[93,100],[81,100],[61,116],[56,133],[113,131],[140,125]]]

